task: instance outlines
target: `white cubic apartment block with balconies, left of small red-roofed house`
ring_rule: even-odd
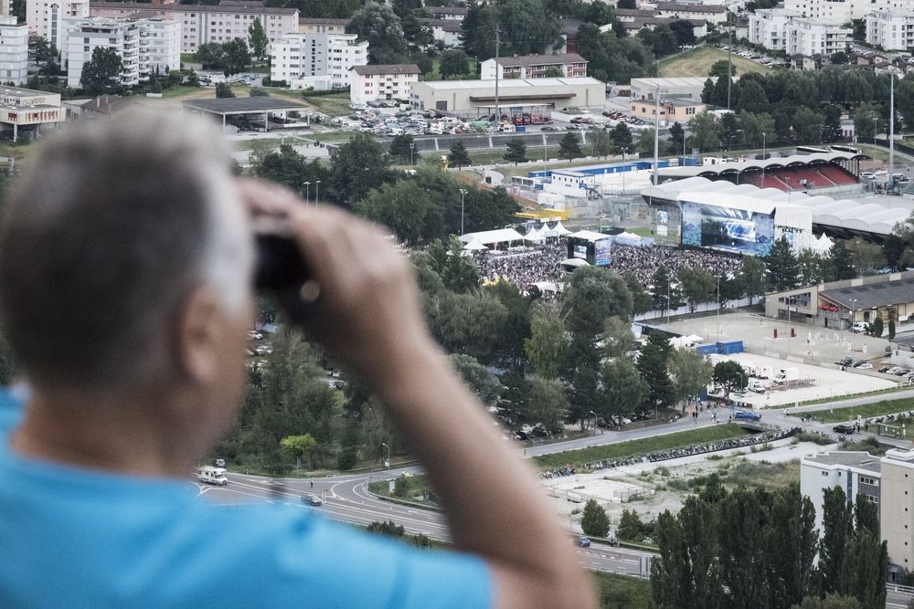
[[[270,45],[271,80],[292,89],[341,89],[350,68],[368,63],[368,43],[356,34],[290,34]]]

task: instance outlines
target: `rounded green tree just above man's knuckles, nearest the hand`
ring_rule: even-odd
[[[425,216],[431,207],[429,194],[413,180],[381,184],[356,201],[354,211],[372,222],[388,226],[400,241],[413,245],[421,240]]]

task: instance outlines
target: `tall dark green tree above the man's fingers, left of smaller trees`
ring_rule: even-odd
[[[329,191],[336,203],[353,206],[368,191],[388,182],[388,155],[368,133],[356,133],[330,152]]]

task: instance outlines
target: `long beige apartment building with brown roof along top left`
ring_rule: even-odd
[[[262,2],[222,0],[218,5],[147,5],[136,2],[93,2],[93,17],[160,16],[181,24],[181,52],[194,53],[200,45],[241,38],[248,41],[248,29],[260,21],[270,42],[299,29],[297,8],[274,8]]]

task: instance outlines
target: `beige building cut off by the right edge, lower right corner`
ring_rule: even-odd
[[[889,562],[914,571],[914,450],[892,448],[882,457],[879,529]]]

